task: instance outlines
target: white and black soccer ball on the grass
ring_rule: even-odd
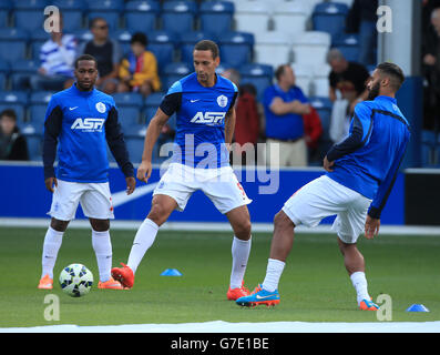
[[[60,274],[60,285],[69,296],[81,297],[89,293],[93,284],[93,274],[82,264],[71,264]]]

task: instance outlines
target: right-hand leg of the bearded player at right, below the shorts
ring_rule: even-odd
[[[371,301],[371,296],[368,294],[364,255],[359,252],[356,243],[348,244],[338,237],[338,244],[348,275],[356,290],[359,310],[378,311],[379,306]]]

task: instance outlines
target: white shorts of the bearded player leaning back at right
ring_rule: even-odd
[[[332,230],[347,243],[356,243],[365,230],[371,200],[323,175],[299,189],[283,211],[295,225],[317,226],[327,216],[337,215]]]

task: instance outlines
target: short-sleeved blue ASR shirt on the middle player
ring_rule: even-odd
[[[225,118],[234,109],[238,90],[231,80],[216,77],[215,84],[205,88],[194,72],[176,81],[162,101],[165,114],[176,112],[172,162],[203,169],[229,165]]]

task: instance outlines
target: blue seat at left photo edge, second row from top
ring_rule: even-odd
[[[13,62],[27,54],[28,32],[22,29],[0,29],[0,58]]]

